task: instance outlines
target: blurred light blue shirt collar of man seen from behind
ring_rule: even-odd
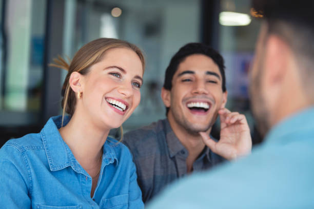
[[[314,106],[297,112],[274,126],[266,135],[265,141],[283,142],[285,136],[293,133],[302,133],[307,130],[314,130]],[[300,140],[300,137],[289,137],[293,140]]]

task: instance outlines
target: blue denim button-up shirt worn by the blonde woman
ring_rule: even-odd
[[[62,139],[60,127],[61,116],[52,117],[40,133],[9,140],[0,149],[0,208],[144,207],[125,145],[107,138],[91,198],[92,178]]]

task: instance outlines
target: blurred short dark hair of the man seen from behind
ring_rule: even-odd
[[[314,1],[252,0],[252,6],[263,15],[268,35],[279,36],[291,48],[303,88],[311,93],[314,88]],[[314,95],[311,97],[314,102]]]

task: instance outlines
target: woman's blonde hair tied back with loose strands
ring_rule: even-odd
[[[62,87],[63,113],[61,127],[63,127],[65,113],[68,113],[70,116],[72,116],[75,111],[76,96],[75,92],[71,89],[69,84],[71,74],[73,72],[79,72],[82,75],[87,74],[89,72],[89,68],[97,62],[101,61],[105,52],[112,48],[125,48],[134,51],[139,56],[142,62],[144,73],[145,59],[142,51],[138,47],[128,43],[127,41],[115,38],[99,38],[90,41],[75,53],[70,64],[68,64],[67,61],[64,60],[61,56],[53,59],[54,64],[50,64],[50,66],[62,68],[68,71]],[[123,133],[122,129],[121,131]]]

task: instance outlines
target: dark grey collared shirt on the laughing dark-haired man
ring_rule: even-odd
[[[122,142],[133,155],[144,202],[172,181],[187,175],[186,158],[189,153],[175,136],[168,119],[128,132]],[[205,147],[193,163],[193,171],[209,169],[223,160]]]

